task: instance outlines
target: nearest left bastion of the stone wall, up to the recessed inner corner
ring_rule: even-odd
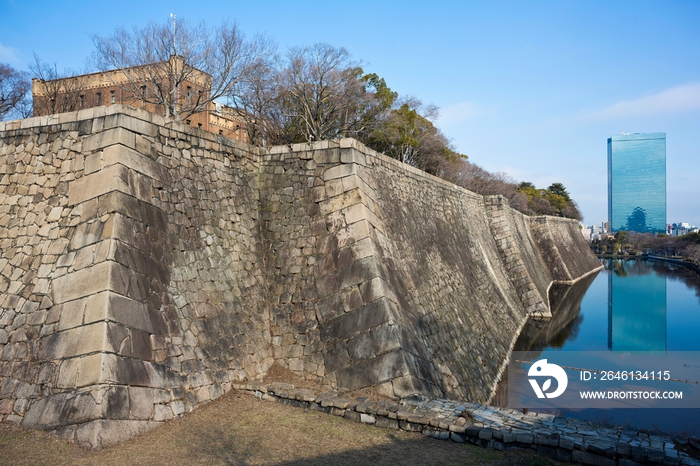
[[[92,446],[273,360],[257,149],[123,110],[2,133],[0,413]]]

